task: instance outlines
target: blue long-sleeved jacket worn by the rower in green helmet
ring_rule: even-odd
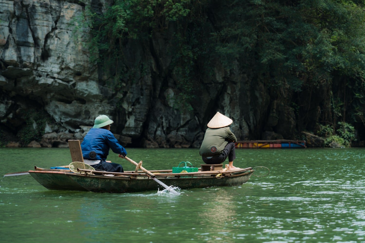
[[[109,149],[114,153],[127,155],[113,133],[104,128],[92,128],[81,143],[82,156],[87,160],[106,160]]]

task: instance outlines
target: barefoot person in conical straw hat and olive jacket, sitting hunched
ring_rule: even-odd
[[[199,150],[205,164],[222,164],[228,157],[228,170],[239,169],[233,166],[237,138],[228,127],[232,122],[231,118],[219,112],[208,122]]]

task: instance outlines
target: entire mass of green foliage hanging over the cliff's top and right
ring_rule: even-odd
[[[330,87],[332,102],[321,107],[328,114],[324,121],[337,124],[341,117],[364,123],[363,8],[363,1],[349,0],[115,0],[103,12],[85,7],[75,30],[80,40],[90,30],[84,43],[91,58],[114,76],[119,90],[130,79],[141,79],[141,70],[150,72],[141,64],[143,51],[132,66],[126,64],[128,45],[139,43],[148,52],[157,36],[166,36],[158,39],[166,42],[167,71],[174,74],[181,91],[175,98],[183,107],[191,107],[199,95],[193,87],[200,80],[214,78],[216,62],[227,73],[243,70],[250,79],[288,93],[311,95]],[[303,106],[300,99],[289,102]],[[296,114],[305,116],[300,109]]]

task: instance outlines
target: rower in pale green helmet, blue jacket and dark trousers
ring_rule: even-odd
[[[107,161],[110,149],[119,154],[119,157],[127,155],[126,149],[119,144],[113,133],[110,132],[113,123],[107,115],[99,115],[95,118],[93,128],[89,130],[81,143],[82,157],[84,157],[86,164],[95,169],[123,173],[122,165]]]

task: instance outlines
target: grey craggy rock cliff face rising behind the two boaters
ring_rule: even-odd
[[[230,128],[239,140],[293,138],[293,111],[283,101],[272,101],[265,84],[238,64],[227,71],[214,62],[214,75],[196,82],[200,95],[193,109],[177,109],[178,77],[169,68],[163,36],[153,36],[148,48],[138,42],[124,46],[124,64],[147,63],[147,71],[116,91],[112,77],[91,63],[88,50],[73,38],[73,19],[85,4],[100,11],[108,4],[84,2],[0,0],[3,136],[19,140],[19,130],[30,125],[41,129],[40,146],[67,146],[68,139],[82,140],[95,117],[106,114],[124,146],[199,147],[207,122],[220,111],[233,119]],[[81,36],[89,38],[84,31]]]

